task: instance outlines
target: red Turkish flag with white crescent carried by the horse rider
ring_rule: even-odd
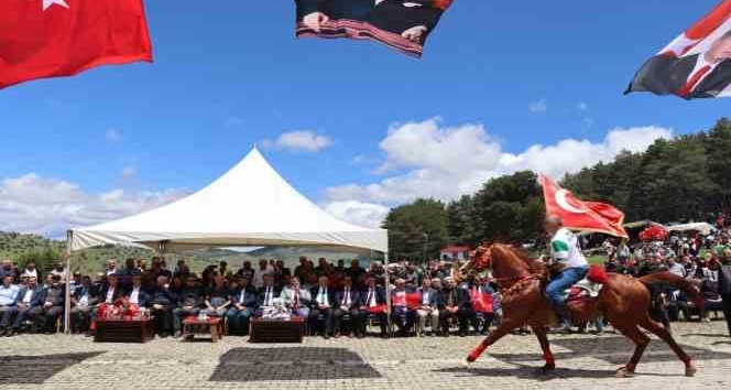
[[[612,205],[577,199],[570,191],[564,189],[550,178],[538,177],[546,201],[546,215],[555,215],[569,229],[603,232],[628,238],[624,231],[624,213]]]

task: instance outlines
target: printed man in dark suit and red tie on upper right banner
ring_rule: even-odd
[[[731,85],[731,30],[702,53],[658,54],[643,65],[626,93],[648,90],[687,99],[716,97]],[[625,93],[625,94],[626,94]],[[727,90],[728,93],[728,90]]]

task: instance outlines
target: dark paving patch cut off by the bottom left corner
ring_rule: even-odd
[[[0,384],[42,384],[56,373],[101,354],[0,356]]]

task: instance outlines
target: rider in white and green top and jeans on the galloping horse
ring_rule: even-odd
[[[560,217],[550,215],[545,221],[546,232],[550,239],[550,257],[555,272],[546,286],[546,297],[561,318],[559,332],[571,328],[570,313],[566,306],[566,290],[583,279],[589,272],[589,262],[579,250],[578,239],[564,227]]]

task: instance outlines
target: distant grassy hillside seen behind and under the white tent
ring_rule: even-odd
[[[62,257],[65,249],[65,241],[47,239],[36,235],[0,231],[0,258],[10,258],[21,267],[29,261],[35,261],[41,270],[50,270],[54,262]],[[117,259],[121,266],[124,259],[128,258],[150,259],[153,256],[155,256],[153,251],[141,248],[106,246],[75,252],[72,262],[74,270],[79,270],[85,274],[96,274],[103,269],[107,259]],[[228,261],[231,269],[238,269],[246,260],[257,261],[259,259],[284,260],[287,267],[294,267],[301,256],[309,259],[324,257],[330,261],[361,259],[367,262],[370,259],[370,251],[357,253],[317,247],[272,247],[243,253],[211,248],[178,254],[168,253],[165,259],[171,268],[175,266],[177,260],[185,259],[193,271],[200,272],[206,266],[221,260]]]

